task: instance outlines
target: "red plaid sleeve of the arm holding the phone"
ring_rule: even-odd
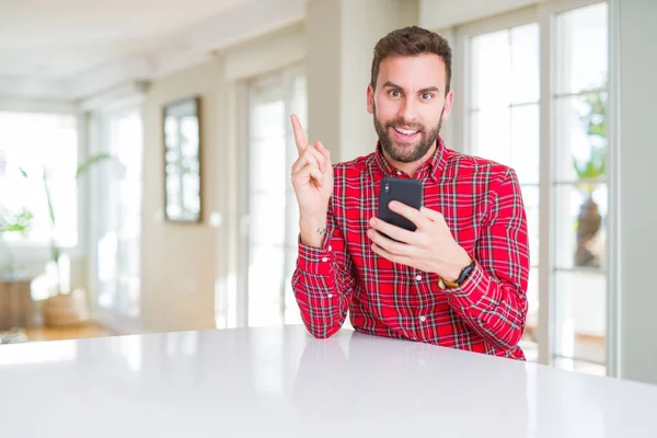
[[[494,194],[473,258],[470,276],[450,289],[450,306],[487,342],[515,348],[527,319],[529,243],[520,184],[511,169]]]

